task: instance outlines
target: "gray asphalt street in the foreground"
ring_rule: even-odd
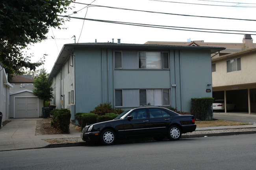
[[[1,170],[254,170],[256,134],[3,151]]]

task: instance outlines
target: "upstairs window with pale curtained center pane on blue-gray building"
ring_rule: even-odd
[[[139,68],[169,69],[169,53],[139,52]]]

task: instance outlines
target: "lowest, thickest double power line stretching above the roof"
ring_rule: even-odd
[[[220,30],[220,29],[203,29],[203,28],[189,28],[189,27],[159,26],[159,25],[151,25],[151,24],[132,23],[132,22],[119,22],[119,21],[79,18],[79,17],[63,16],[63,15],[58,15],[58,16],[67,17],[67,18],[81,19],[81,20],[90,20],[90,21],[96,21],[96,22],[107,22],[107,23],[113,23],[113,24],[123,24],[123,25],[141,26],[141,27],[153,27],[153,28],[162,28],[162,29],[174,29],[174,30],[180,30],[180,31],[195,31],[195,32],[205,32],[205,33],[224,33],[224,34],[240,34],[240,35],[244,35],[244,34],[256,35],[256,34],[248,33],[248,32],[256,33],[256,31],[237,31],[237,30]],[[181,29],[181,28],[183,28],[183,29]],[[192,30],[192,29],[213,30],[213,31],[200,31],[200,30]],[[216,31],[236,31],[236,32],[244,32],[244,33],[230,33],[230,32],[216,32]]]

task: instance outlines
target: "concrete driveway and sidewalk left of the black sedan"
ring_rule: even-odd
[[[41,139],[80,137],[80,132],[72,126],[69,128],[70,134],[35,135],[36,122],[41,119],[43,118],[9,119],[11,122],[0,129],[0,151],[49,146],[49,143]]]

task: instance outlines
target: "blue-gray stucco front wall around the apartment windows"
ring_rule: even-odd
[[[211,97],[210,51],[170,50],[170,69],[113,69],[113,49],[75,51],[76,113],[105,102],[114,104],[114,89],[171,89],[171,106],[190,112],[191,98]],[[172,86],[173,84],[173,86]]]

